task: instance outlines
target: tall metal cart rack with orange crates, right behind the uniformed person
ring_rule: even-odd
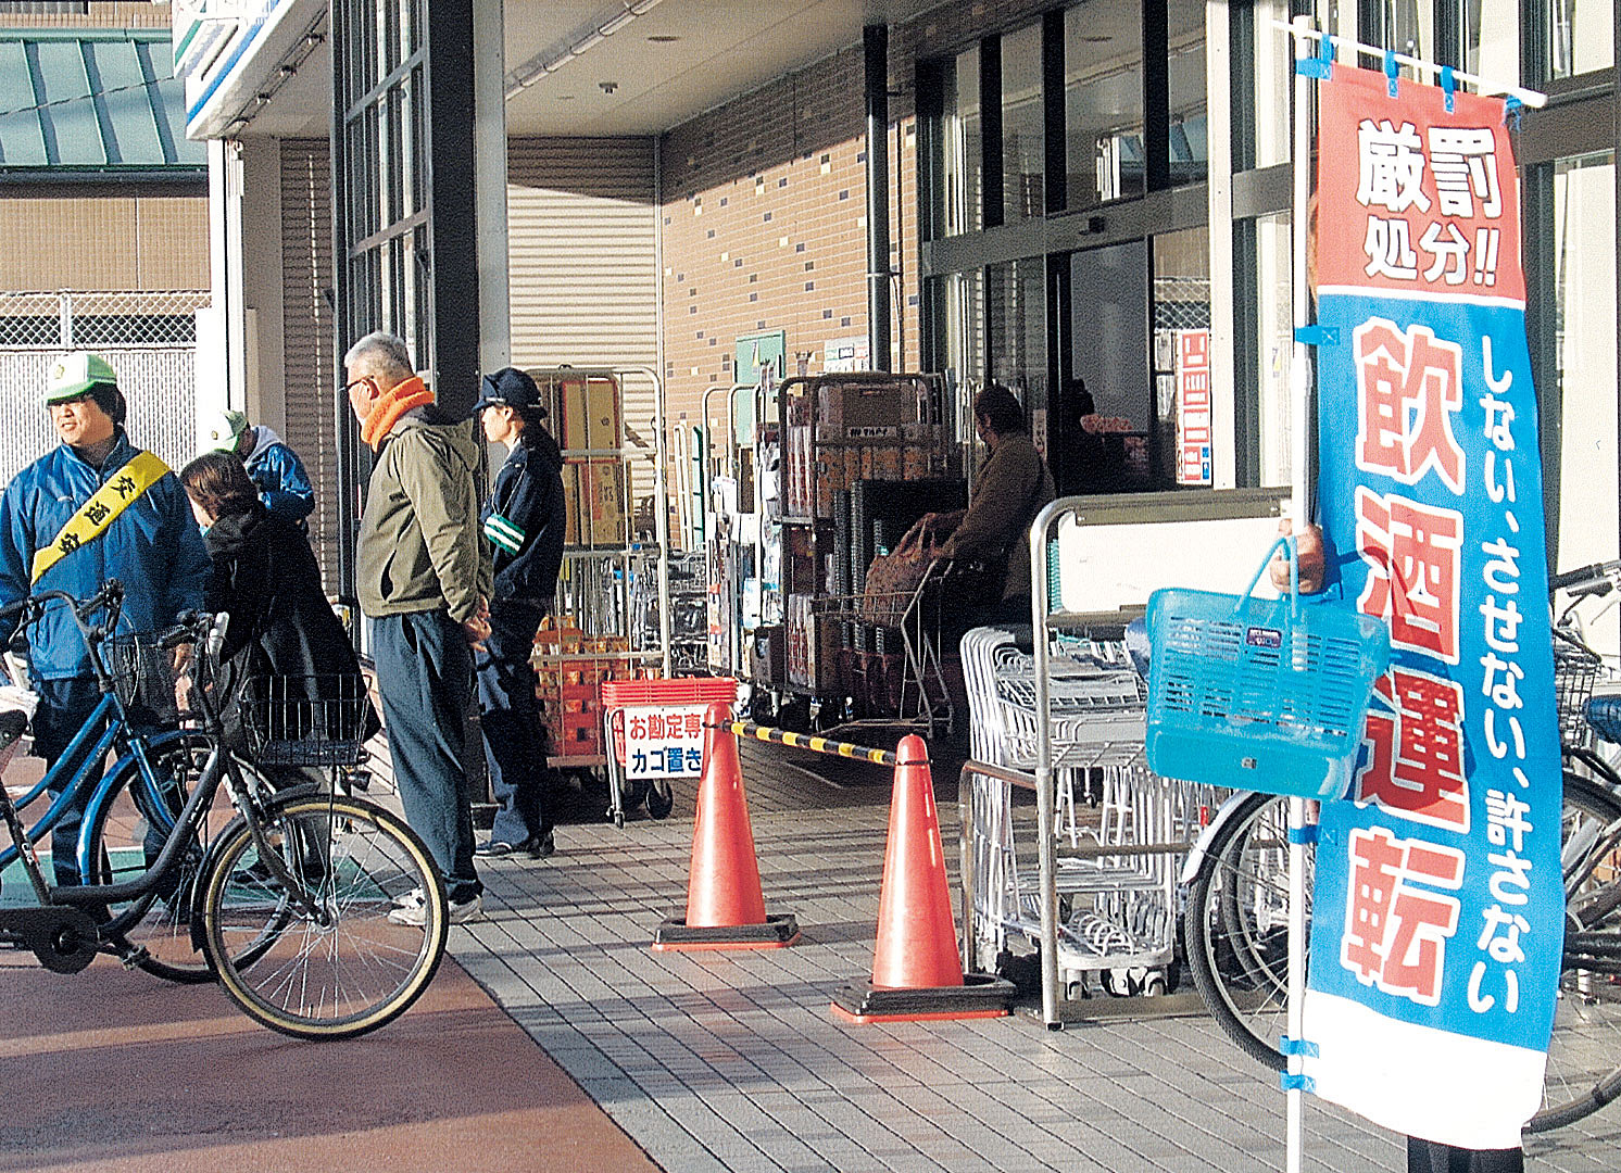
[[[554,742],[548,765],[605,776],[598,687],[669,674],[663,382],[645,366],[561,366],[528,374],[548,402],[572,510],[556,611],[533,656]],[[624,421],[626,389],[642,402],[650,397],[652,442]],[[635,540],[635,502],[644,494],[655,504],[652,541]]]

